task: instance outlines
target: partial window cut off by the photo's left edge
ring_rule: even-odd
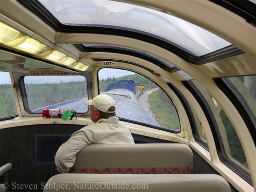
[[[0,118],[18,114],[9,72],[0,72]]]

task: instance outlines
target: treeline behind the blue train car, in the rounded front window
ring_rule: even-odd
[[[149,80],[148,78],[140,75],[140,74],[131,74],[131,75],[125,75],[122,77],[108,77],[108,78],[104,78],[102,80],[100,80],[99,82],[99,86],[100,86],[100,92],[106,92],[106,86],[108,86],[111,83],[115,83],[118,82],[119,80],[124,80],[124,79],[130,79],[130,80],[134,80],[138,83],[143,83],[145,84],[145,90],[149,90],[152,88],[157,88],[158,86],[156,84],[154,84],[154,82],[152,82],[151,80]]]

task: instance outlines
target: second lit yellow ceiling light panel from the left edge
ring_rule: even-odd
[[[42,54],[49,48],[38,40],[22,34],[4,45],[35,55]]]

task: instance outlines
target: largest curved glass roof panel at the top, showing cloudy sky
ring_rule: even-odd
[[[231,45],[226,40],[170,14],[110,0],[39,0],[65,25],[93,25],[140,30],[177,44],[195,56]]]

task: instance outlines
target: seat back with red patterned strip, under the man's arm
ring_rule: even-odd
[[[72,173],[190,174],[193,154],[185,144],[92,144],[76,155]]]

